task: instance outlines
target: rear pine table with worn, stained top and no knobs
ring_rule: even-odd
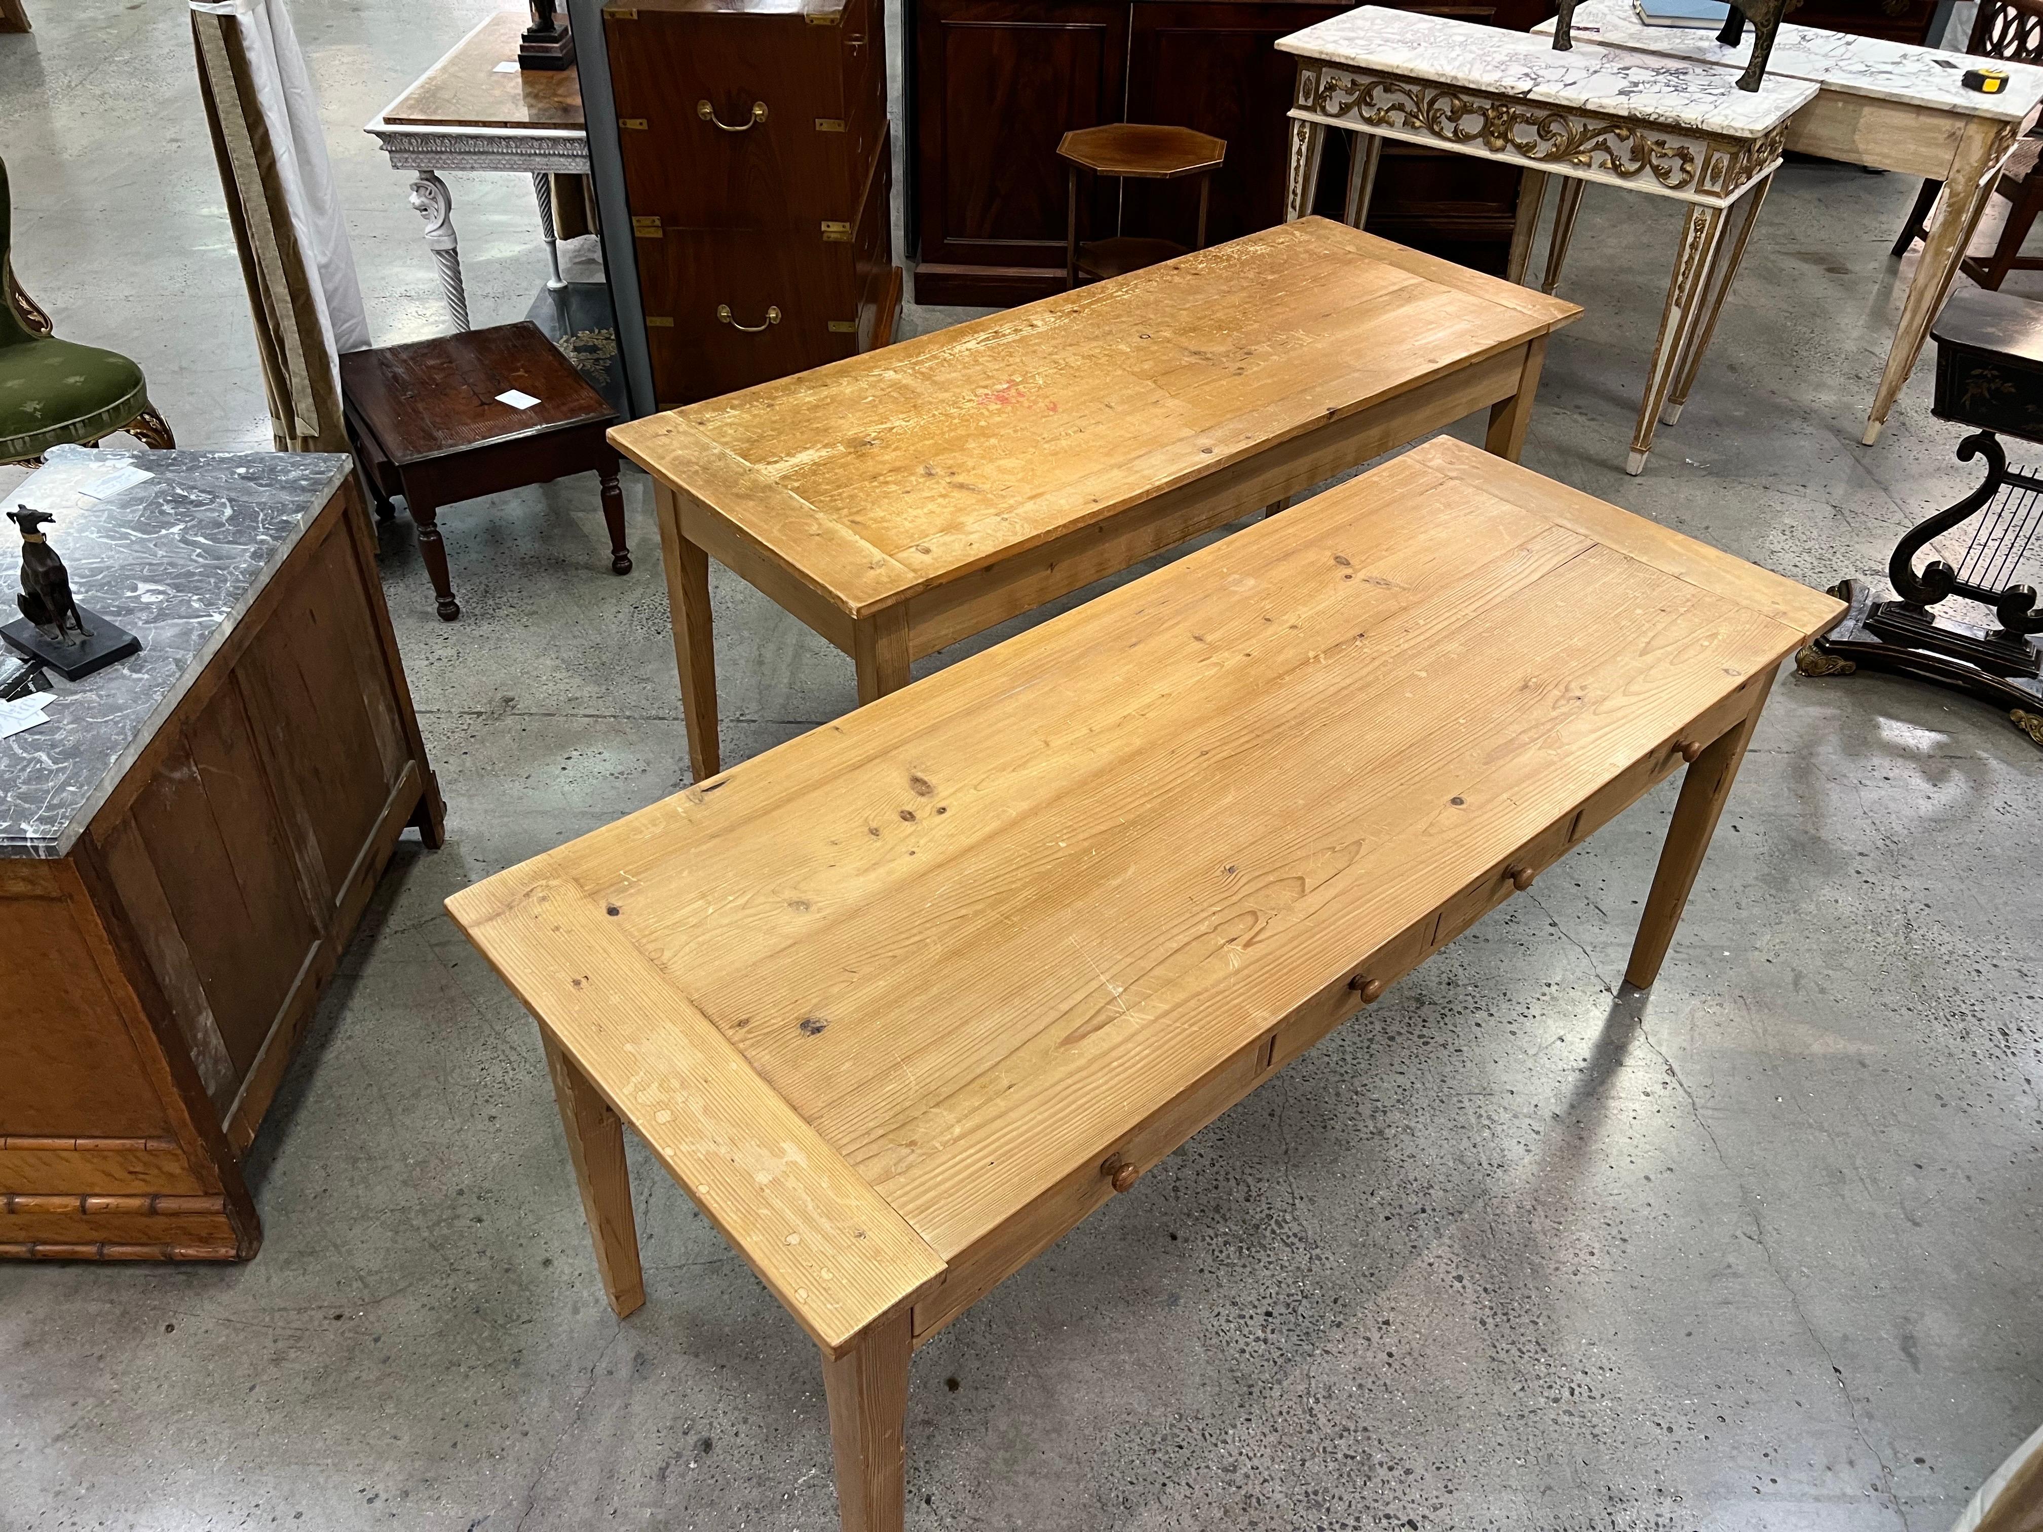
[[[709,560],[909,662],[1489,409],[1516,460],[1581,308],[1310,219],[611,431],[654,478],[695,778]]]

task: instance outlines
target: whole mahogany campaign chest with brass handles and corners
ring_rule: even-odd
[[[660,409],[893,337],[883,0],[605,6]]]

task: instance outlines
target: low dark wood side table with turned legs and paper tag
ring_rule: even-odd
[[[498,398],[507,392],[537,402],[519,409]],[[390,496],[402,494],[419,523],[419,554],[443,621],[462,607],[447,578],[439,507],[478,494],[595,472],[611,529],[611,574],[631,574],[617,453],[605,441],[617,413],[531,321],[349,351],[341,396],[376,515],[396,515]]]

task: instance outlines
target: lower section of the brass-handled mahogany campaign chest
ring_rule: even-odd
[[[844,239],[821,231],[676,229],[639,237],[639,290],[662,409],[856,355],[887,286],[893,167],[885,139]],[[729,308],[729,321],[717,317]],[[770,319],[778,310],[778,319]],[[740,329],[760,327],[764,329]],[[870,325],[866,325],[870,329]]]

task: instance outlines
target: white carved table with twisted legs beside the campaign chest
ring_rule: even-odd
[[[456,329],[468,329],[468,290],[454,233],[454,196],[443,170],[509,170],[531,176],[539,233],[554,274],[566,286],[554,235],[554,188],[548,176],[588,174],[582,84],[574,69],[503,69],[517,59],[525,10],[503,10],[454,45],[402,96],[368,125],[390,163],[413,172],[411,204],[425,219],[425,243],[439,264],[439,284]]]

